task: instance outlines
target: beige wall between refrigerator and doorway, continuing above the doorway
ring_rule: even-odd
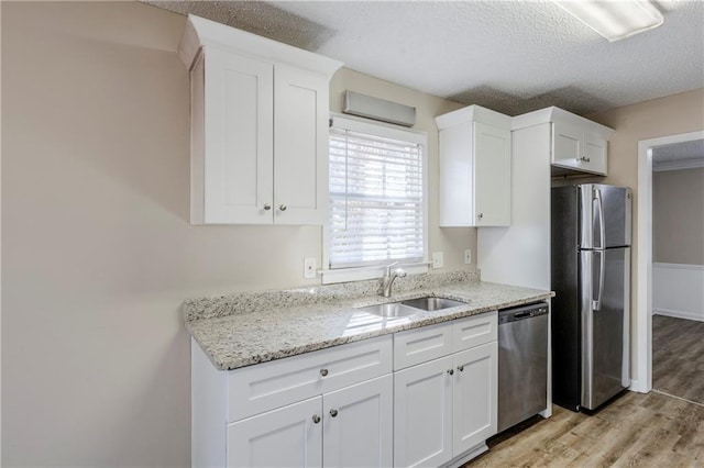
[[[608,177],[603,180],[604,183],[630,187],[634,192],[630,330],[635,334],[639,326],[636,271],[645,268],[637,261],[638,142],[704,130],[704,88],[616,108],[590,118],[616,130],[608,143]],[[637,371],[636,363],[640,356],[635,347],[631,350],[631,378],[639,380],[645,377]]]

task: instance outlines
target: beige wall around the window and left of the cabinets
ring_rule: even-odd
[[[185,19],[127,2],[2,2],[2,465],[188,466],[185,298],[310,285],[319,227],[188,224]],[[464,268],[475,230],[437,227],[437,134],[458,107],[349,70],[418,108],[430,247]]]

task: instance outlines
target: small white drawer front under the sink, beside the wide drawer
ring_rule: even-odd
[[[452,322],[394,334],[394,370],[452,353]]]

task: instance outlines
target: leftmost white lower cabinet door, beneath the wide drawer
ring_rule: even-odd
[[[321,410],[316,397],[229,424],[228,467],[322,467]]]

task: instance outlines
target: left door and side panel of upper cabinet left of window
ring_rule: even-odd
[[[271,223],[274,67],[217,48],[202,57],[191,76],[191,222]]]

